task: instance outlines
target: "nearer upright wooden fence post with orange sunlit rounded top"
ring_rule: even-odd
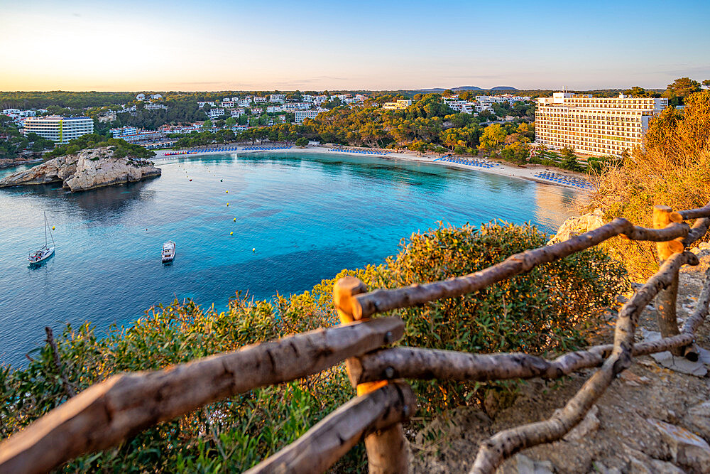
[[[354,276],[345,276],[335,282],[333,286],[333,303],[342,324],[354,321],[352,296],[366,291],[365,284]],[[345,364],[349,374],[350,361],[346,360]],[[363,395],[373,392],[386,384],[388,384],[387,380],[365,382],[358,384],[356,391],[358,395]],[[365,449],[367,451],[368,469],[371,474],[408,472],[407,441],[401,423],[393,424],[386,429],[368,434],[365,437]]]

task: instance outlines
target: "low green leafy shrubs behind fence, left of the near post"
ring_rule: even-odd
[[[110,375],[156,370],[260,340],[329,325],[309,293],[274,302],[237,297],[229,311],[202,311],[192,301],[146,312],[129,327],[98,338],[88,323],[67,327],[58,348],[78,390]],[[280,316],[280,317],[275,317]],[[18,431],[65,401],[48,346],[32,354],[23,370],[0,367],[0,438]],[[277,387],[265,387],[202,407],[147,429],[115,448],[82,456],[67,472],[234,472],[251,467],[295,441],[323,416],[346,402],[353,389],[344,367]],[[356,448],[339,469],[364,465]]]

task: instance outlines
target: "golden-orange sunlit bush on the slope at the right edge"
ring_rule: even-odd
[[[651,121],[643,149],[604,168],[591,208],[603,209],[608,219],[626,217],[650,227],[653,205],[692,209],[710,202],[710,90],[687,95],[684,104]],[[657,269],[650,242],[618,238],[606,247],[634,276]]]

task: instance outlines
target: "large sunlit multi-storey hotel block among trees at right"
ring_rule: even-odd
[[[648,122],[667,107],[668,99],[555,92],[537,99],[535,143],[549,149],[567,146],[587,155],[618,156],[641,146]]]

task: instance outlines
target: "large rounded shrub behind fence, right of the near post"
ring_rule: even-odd
[[[372,284],[394,288],[468,274],[545,241],[530,225],[439,224],[403,242],[386,268],[373,272]],[[407,323],[403,345],[545,354],[582,345],[585,331],[597,327],[601,308],[610,306],[626,283],[620,264],[599,249],[589,249],[475,293],[393,313]],[[476,384],[461,382],[416,382],[415,392],[425,411],[484,396]]]

